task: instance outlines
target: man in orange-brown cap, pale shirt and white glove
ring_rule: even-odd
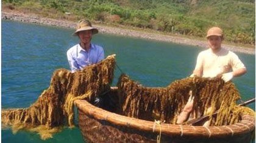
[[[192,77],[199,76],[204,78],[214,78],[216,76],[221,76],[225,82],[228,82],[234,77],[246,73],[246,67],[243,62],[240,61],[238,56],[221,47],[221,43],[224,40],[221,28],[210,28],[206,38],[209,48],[202,51],[197,56],[196,67],[191,75]],[[181,124],[188,119],[188,115],[190,115],[192,108],[193,98],[190,97],[177,119],[177,124]],[[210,123],[207,122],[205,125],[209,124]]]

